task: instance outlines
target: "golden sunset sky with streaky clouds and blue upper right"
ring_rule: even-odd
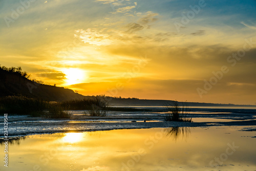
[[[82,95],[255,104],[255,6],[0,0],[0,64]]]

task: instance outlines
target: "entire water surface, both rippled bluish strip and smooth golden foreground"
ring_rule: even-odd
[[[162,107],[137,108],[145,111],[9,115],[8,137],[16,139],[9,140],[8,168],[3,162],[0,170],[256,170],[256,109],[191,108],[189,123],[164,121]],[[2,157],[4,149],[2,140]]]

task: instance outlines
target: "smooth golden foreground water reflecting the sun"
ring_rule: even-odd
[[[0,170],[256,170],[256,135],[244,127],[33,135],[9,144]]]

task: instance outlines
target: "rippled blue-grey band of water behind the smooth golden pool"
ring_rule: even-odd
[[[181,124],[164,121],[164,108],[148,106],[123,106],[139,108],[138,112],[109,112],[108,117],[84,116],[84,111],[72,111],[71,119],[44,119],[29,116],[9,115],[8,136],[21,137],[35,134],[65,133],[69,131],[103,131],[116,129],[140,129],[169,126],[206,126],[221,122],[248,121],[256,119],[256,108],[191,108],[193,123]],[[147,111],[150,109],[151,111]],[[4,121],[4,117],[0,117]],[[135,122],[136,121],[136,122]],[[144,122],[145,121],[145,122]],[[238,123],[234,123],[237,125]],[[252,123],[250,123],[251,125]],[[4,122],[0,122],[0,132],[4,131]],[[254,124],[255,125],[255,124]],[[1,134],[0,138],[4,135]]]

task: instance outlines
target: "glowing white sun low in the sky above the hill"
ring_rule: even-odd
[[[68,85],[81,83],[85,77],[85,72],[76,68],[65,69],[63,73],[66,75]]]

